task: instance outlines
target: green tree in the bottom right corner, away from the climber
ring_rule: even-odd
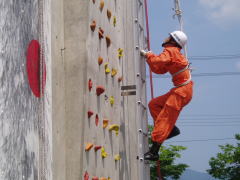
[[[222,152],[209,161],[211,169],[207,172],[215,178],[240,180],[240,134],[235,135],[237,145],[220,145]]]

